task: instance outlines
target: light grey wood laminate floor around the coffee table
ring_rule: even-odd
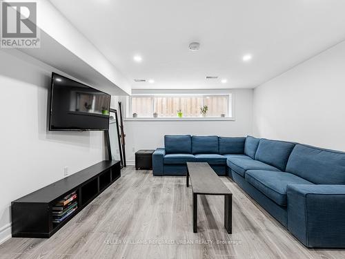
[[[306,249],[229,178],[233,234],[224,197],[200,196],[193,233],[192,191],[184,177],[153,177],[128,166],[122,176],[52,238],[11,238],[0,258],[345,258]]]

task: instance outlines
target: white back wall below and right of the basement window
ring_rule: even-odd
[[[235,89],[235,121],[125,121],[126,158],[135,161],[135,151],[164,146],[164,135],[219,135],[242,137],[252,133],[253,90]]]

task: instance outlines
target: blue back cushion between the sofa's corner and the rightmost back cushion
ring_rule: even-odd
[[[285,171],[288,157],[295,147],[295,143],[262,139],[255,153],[255,160],[275,166]]]

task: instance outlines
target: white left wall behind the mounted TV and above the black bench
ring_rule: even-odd
[[[59,73],[17,50],[0,50],[0,242],[11,234],[12,200],[60,180],[64,166],[72,174],[105,156],[101,132],[47,131],[52,71]]]

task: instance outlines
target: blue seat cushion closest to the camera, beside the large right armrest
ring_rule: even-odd
[[[248,170],[245,179],[280,206],[287,205],[288,184],[313,184],[293,173],[264,170]]]

